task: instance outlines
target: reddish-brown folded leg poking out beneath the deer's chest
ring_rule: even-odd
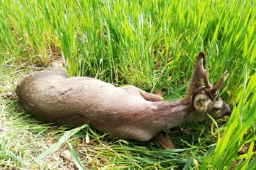
[[[174,149],[175,146],[173,144],[173,141],[171,141],[171,138],[169,137],[168,133],[163,135],[162,132],[158,132],[155,137],[153,137],[156,142],[160,145],[163,149]]]

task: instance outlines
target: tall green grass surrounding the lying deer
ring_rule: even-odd
[[[0,18],[1,168],[66,168],[63,150],[80,169],[256,168],[255,1],[3,0]],[[200,51],[211,83],[230,73],[220,92],[233,111],[170,129],[179,150],[42,124],[11,99],[23,76],[59,57],[70,76],[179,99]]]

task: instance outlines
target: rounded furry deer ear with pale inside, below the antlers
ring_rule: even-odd
[[[193,107],[198,111],[207,111],[211,100],[205,94],[195,94],[193,96]]]

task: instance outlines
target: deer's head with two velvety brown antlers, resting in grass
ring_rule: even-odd
[[[229,106],[220,98],[218,89],[226,81],[229,74],[223,73],[220,80],[212,85],[208,79],[209,70],[205,70],[205,55],[200,52],[195,63],[188,86],[188,95],[192,111],[187,115],[186,121],[202,121],[208,118],[207,113],[213,118],[218,118],[230,112]],[[205,86],[203,86],[203,82]]]

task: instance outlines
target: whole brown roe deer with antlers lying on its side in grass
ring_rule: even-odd
[[[117,139],[158,140],[162,148],[174,148],[161,131],[187,121],[218,118],[230,112],[217,90],[229,74],[214,86],[208,81],[205,55],[197,57],[187,96],[177,101],[149,94],[135,86],[115,87],[95,78],[69,77],[63,68],[36,71],[17,86],[20,102],[41,121],[57,125],[90,124]],[[205,86],[202,83],[205,83]]]

